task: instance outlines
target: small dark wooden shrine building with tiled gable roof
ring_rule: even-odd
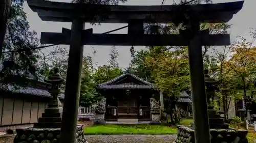
[[[138,119],[150,121],[150,98],[156,91],[153,84],[131,73],[122,74],[98,84],[97,90],[106,98],[106,121]]]

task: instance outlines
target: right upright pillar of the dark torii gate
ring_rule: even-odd
[[[193,21],[190,21],[188,24],[188,30],[190,37],[188,45],[188,59],[191,95],[193,101],[195,142],[210,143],[200,22],[193,19]]]

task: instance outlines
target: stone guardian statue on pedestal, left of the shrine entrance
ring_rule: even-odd
[[[100,101],[97,102],[97,106],[95,108],[95,120],[94,124],[105,124],[105,112],[106,112],[106,98],[101,98]]]

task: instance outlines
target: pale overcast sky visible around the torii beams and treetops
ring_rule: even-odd
[[[0,0],[2,1],[2,0]],[[54,0],[54,2],[70,2],[71,0]],[[236,0],[213,0],[214,3],[224,3],[224,2],[236,2]],[[162,0],[128,0],[128,2],[120,5],[161,5]],[[172,5],[173,0],[166,0],[164,5]],[[249,35],[249,27],[256,28],[256,19],[254,18],[256,0],[245,0],[244,6],[242,10],[233,16],[233,19],[229,21],[232,24],[231,27],[231,41],[234,39],[236,35]],[[42,21],[37,13],[34,13],[25,3],[25,12],[27,13],[28,21],[31,30],[35,30],[38,34],[38,38],[40,38],[41,32],[61,32],[61,28],[71,28],[71,23],[69,22],[49,22]],[[127,24],[104,24],[101,25],[90,25],[90,23],[86,23],[86,28],[93,28],[94,33],[104,33],[107,31],[114,30],[118,27],[125,26]],[[116,34],[127,34],[127,28],[123,30],[119,30],[114,32]],[[114,34],[113,33],[113,34]],[[97,51],[96,56],[92,54],[92,47]],[[126,68],[129,66],[131,61],[130,54],[131,46],[116,46],[119,52],[119,66],[122,68]],[[135,46],[135,50],[144,49],[144,46]],[[44,49],[45,52],[49,52],[52,50],[52,47]],[[91,54],[93,57],[93,63],[96,65],[103,65],[109,60],[111,46],[84,46],[84,55]]]

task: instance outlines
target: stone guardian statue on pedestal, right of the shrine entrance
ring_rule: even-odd
[[[159,101],[157,102],[155,98],[150,98],[150,104],[151,104],[151,124],[161,124],[160,119],[160,105]]]

